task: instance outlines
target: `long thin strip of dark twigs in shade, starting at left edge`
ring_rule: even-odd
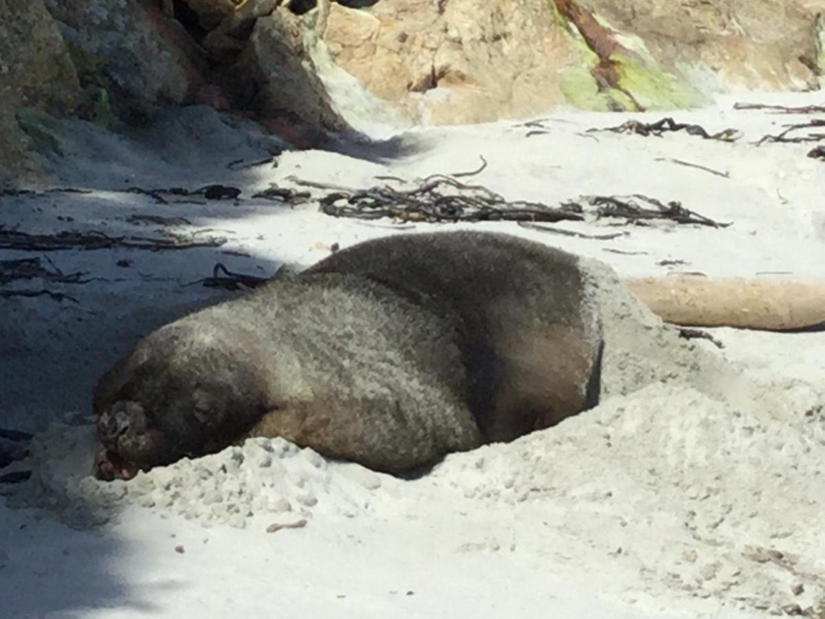
[[[194,236],[194,234],[193,234]],[[210,237],[192,240],[179,234],[166,238],[148,239],[142,236],[109,236],[92,230],[91,232],[59,232],[57,234],[27,234],[17,230],[7,230],[0,226],[0,249],[24,251],[55,251],[58,249],[109,249],[114,247],[148,249],[153,252],[166,249],[191,249],[220,247],[226,239]]]

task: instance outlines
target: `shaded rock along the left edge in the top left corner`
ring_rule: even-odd
[[[42,0],[0,0],[0,187],[38,180],[21,106],[71,111],[83,101],[68,50]]]

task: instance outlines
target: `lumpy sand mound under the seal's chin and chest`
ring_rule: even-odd
[[[196,519],[206,527],[245,527],[256,514],[277,521],[307,517],[319,496],[324,512],[352,516],[369,505],[368,489],[380,476],[360,465],[328,465],[311,449],[282,438],[253,438],[210,456],[184,458],[171,466],[139,473],[134,480],[101,482],[91,475],[97,450],[92,423],[71,419],[52,423],[35,438],[33,475],[10,497],[12,506],[50,508],[74,527],[116,519],[126,505]],[[334,469],[334,470],[333,470]]]

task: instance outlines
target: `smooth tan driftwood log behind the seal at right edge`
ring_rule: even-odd
[[[626,279],[625,285],[667,323],[771,331],[825,328],[825,281],[679,275]]]

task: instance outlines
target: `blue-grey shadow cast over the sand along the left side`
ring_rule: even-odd
[[[93,191],[0,196],[0,229],[6,226],[45,235],[93,229],[102,229],[110,237],[135,234],[134,222],[125,216],[135,206],[148,215],[183,218],[192,226],[214,225],[216,220],[230,226],[232,220],[255,211],[243,201],[238,205],[233,201],[183,203],[172,209],[153,203],[148,196],[122,190],[194,188],[210,182],[245,187],[260,178],[254,177],[251,168],[233,170],[229,163],[276,157],[284,148],[257,125],[228,120],[201,107],[170,110],[153,127],[130,135],[106,133],[80,121],[61,121],[48,129],[58,147],[41,154],[40,163],[51,173],[54,185]],[[412,154],[421,146],[415,139],[399,137],[380,143],[339,141],[332,149],[351,157],[386,161]],[[147,228],[144,234],[151,236],[155,231]],[[220,230],[211,234],[219,235]],[[216,263],[257,276],[271,276],[281,266],[271,258],[238,258],[220,246],[155,252],[122,247],[0,250],[0,260],[21,258],[40,258],[61,272],[84,274],[79,283],[37,278],[0,281],[2,291],[48,287],[67,297],[0,296],[0,382],[4,385],[0,428],[30,432],[42,430],[50,419],[66,411],[91,413],[97,379],[139,338],[182,314],[232,295],[190,285],[210,276]],[[14,509],[10,504],[0,498],[0,614],[4,617],[76,616],[84,609],[115,607],[158,610],[146,601],[145,593],[140,594],[141,601],[134,599],[122,575],[124,558],[134,553],[115,528],[75,530],[49,511]],[[80,509],[92,514],[97,507]],[[84,517],[79,516],[82,522]],[[162,596],[179,585],[157,586]]]

